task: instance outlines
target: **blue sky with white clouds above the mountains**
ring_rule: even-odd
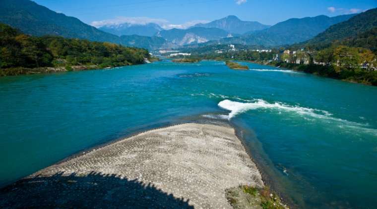
[[[185,28],[228,15],[273,25],[293,17],[336,16],[377,7],[377,0],[34,0],[81,21],[105,23],[157,22]]]

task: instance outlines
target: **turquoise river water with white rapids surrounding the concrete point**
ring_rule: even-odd
[[[229,119],[293,204],[374,208],[377,88],[243,64],[252,70],[161,61],[2,77],[0,185],[136,131],[203,117]]]

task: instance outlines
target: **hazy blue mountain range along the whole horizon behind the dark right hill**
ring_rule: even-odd
[[[112,42],[148,50],[176,48],[193,44],[244,44],[273,47],[308,41],[331,25],[355,14],[328,17],[292,18],[273,26],[243,21],[234,15],[196,24],[188,29],[163,30],[156,23],[87,25],[41,6],[31,0],[0,0],[0,22],[34,36],[54,35],[65,38]],[[360,20],[359,25],[363,25]],[[328,35],[332,36],[332,35]]]

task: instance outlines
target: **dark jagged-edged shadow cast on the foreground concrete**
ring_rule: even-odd
[[[154,185],[91,172],[21,179],[0,189],[0,208],[173,208],[193,209]]]

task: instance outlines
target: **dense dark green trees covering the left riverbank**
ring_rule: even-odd
[[[147,50],[62,37],[33,37],[0,24],[0,76],[141,64]]]

